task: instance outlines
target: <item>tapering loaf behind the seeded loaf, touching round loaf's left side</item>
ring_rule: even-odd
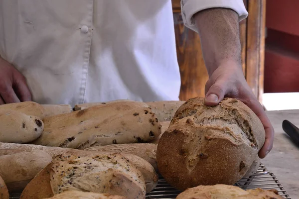
[[[156,172],[158,172],[156,160],[156,144],[111,144],[107,146],[94,146],[87,148],[88,151],[108,151],[115,153],[130,153],[137,155],[149,162]]]

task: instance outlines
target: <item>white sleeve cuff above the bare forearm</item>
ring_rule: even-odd
[[[193,15],[215,7],[230,8],[239,14],[239,21],[248,16],[243,0],[181,0],[182,17],[186,27],[197,32]]]

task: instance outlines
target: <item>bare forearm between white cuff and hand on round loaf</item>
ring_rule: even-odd
[[[241,67],[238,14],[232,9],[211,8],[196,13],[194,19],[209,76],[224,61]]]

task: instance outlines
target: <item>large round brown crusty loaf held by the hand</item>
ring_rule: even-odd
[[[178,190],[233,185],[264,142],[260,119],[243,102],[224,99],[210,107],[203,98],[193,98],[178,108],[159,140],[158,170]]]

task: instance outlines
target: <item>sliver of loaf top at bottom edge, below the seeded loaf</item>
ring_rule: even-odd
[[[98,194],[92,192],[81,192],[77,190],[70,190],[62,192],[48,199],[127,199],[122,196],[112,196],[110,194]]]

